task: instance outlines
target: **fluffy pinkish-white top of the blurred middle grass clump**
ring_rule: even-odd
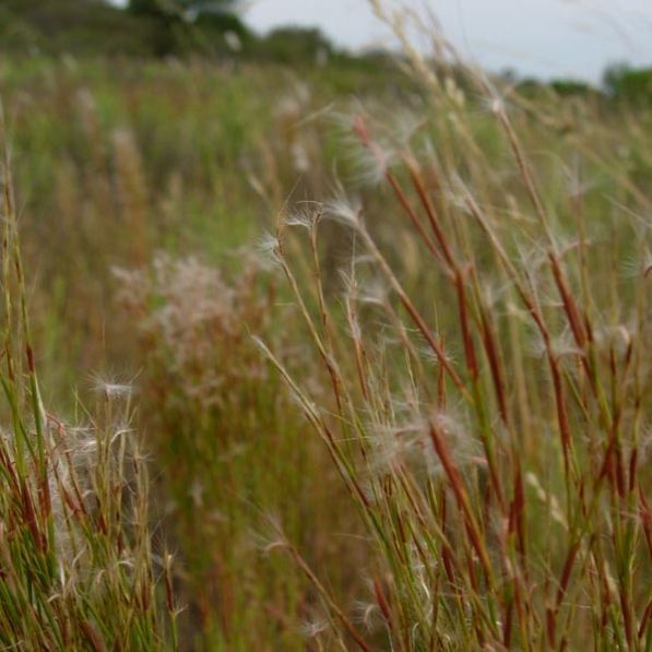
[[[235,401],[232,390],[268,375],[264,363],[244,344],[245,327],[269,330],[275,297],[273,284],[262,286],[263,275],[253,261],[234,283],[197,258],[175,260],[163,252],[155,256],[151,272],[118,269],[115,274],[117,299],[138,317],[157,382],[182,390],[191,412],[224,410]],[[230,364],[206,364],[211,357]]]

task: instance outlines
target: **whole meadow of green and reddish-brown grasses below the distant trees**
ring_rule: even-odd
[[[652,650],[652,114],[448,60],[0,62],[3,647]]]

